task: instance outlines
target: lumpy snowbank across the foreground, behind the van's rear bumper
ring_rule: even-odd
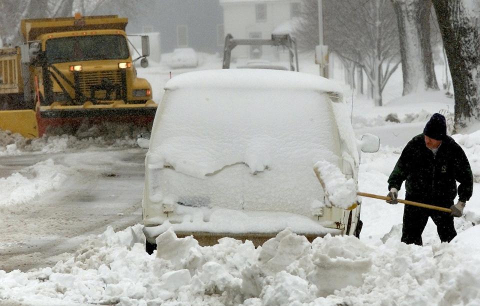
[[[394,239],[368,246],[353,236],[312,243],[288,229],[254,248],[222,238],[199,246],[173,231],[144,251],[141,225],[111,227],[72,258],[29,272],[0,271],[0,298],[27,304],[450,305],[480,302],[480,226],[451,243]]]

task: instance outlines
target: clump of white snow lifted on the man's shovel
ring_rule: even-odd
[[[356,202],[356,185],[352,178],[346,179],[340,169],[326,160],[320,160],[313,166],[318,179],[325,187],[325,194],[334,206],[348,208]]]

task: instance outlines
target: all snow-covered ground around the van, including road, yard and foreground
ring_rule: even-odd
[[[300,70],[316,73],[310,55]],[[200,54],[196,69],[220,65],[218,56]],[[155,100],[169,72],[164,63],[138,69]],[[342,81],[342,73],[337,66],[334,77]],[[401,71],[388,82],[383,107],[364,96],[352,99],[347,86],[345,96],[353,100],[357,136],[380,136],[380,150],[361,156],[359,189],[381,195],[406,141],[431,113],[453,109],[442,91],[401,97]],[[390,113],[400,123],[385,121]],[[231,238],[202,247],[167,231],[165,244],[148,255],[136,224],[145,149],[127,138],[27,141],[0,132],[0,304],[480,304],[480,132],[453,137],[475,183],[451,243],[440,243],[431,221],[424,246],[400,243],[403,205],[364,198],[360,239],[326,236],[310,243],[284,230],[258,248]]]

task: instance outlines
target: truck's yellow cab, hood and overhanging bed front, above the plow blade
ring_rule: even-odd
[[[40,104],[150,100],[150,84],[136,77],[126,23],[116,15],[22,20],[23,58],[38,78]]]

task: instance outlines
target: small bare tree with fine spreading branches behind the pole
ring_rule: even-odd
[[[303,0],[295,36],[302,48],[318,44],[317,0]],[[323,0],[324,43],[343,60],[360,66],[373,88],[375,105],[382,105],[386,81],[398,67],[398,29],[389,0]],[[350,72],[351,74],[353,71]],[[353,83],[353,82],[352,82]]]

